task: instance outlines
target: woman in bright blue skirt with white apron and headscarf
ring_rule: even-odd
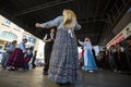
[[[95,59],[92,52],[92,44],[90,38],[85,38],[84,42],[80,41],[80,45],[84,47],[84,70],[93,73],[94,70],[97,70]]]

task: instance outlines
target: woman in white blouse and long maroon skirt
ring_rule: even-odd
[[[26,53],[26,48],[25,48],[26,42],[27,39],[24,38],[22,42],[20,42],[19,46],[14,49],[14,51],[11,53],[8,60],[9,70],[14,71],[17,70],[17,67],[23,67],[24,54]]]

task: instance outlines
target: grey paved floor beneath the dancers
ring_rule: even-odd
[[[31,69],[28,72],[8,71],[0,67],[0,87],[62,87],[48,80],[43,69]],[[109,71],[97,71],[93,74],[82,72],[82,80],[63,87],[131,87],[131,75]]]

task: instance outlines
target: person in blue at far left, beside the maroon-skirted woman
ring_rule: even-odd
[[[7,67],[7,61],[9,60],[9,57],[12,53],[12,51],[15,49],[15,45],[16,45],[16,40],[13,40],[12,42],[7,45],[5,53],[3,53],[3,58],[1,60],[1,65],[3,67]]]

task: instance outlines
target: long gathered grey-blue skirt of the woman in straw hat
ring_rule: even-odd
[[[81,79],[76,39],[71,37],[67,30],[62,30],[56,36],[48,78],[62,84]]]

